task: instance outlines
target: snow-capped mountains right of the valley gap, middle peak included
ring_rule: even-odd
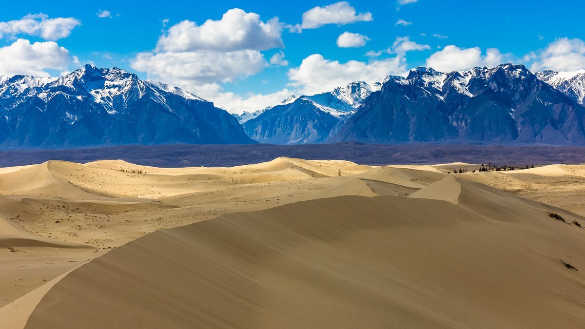
[[[546,81],[546,82],[545,82]],[[300,97],[246,121],[259,142],[300,144],[462,142],[585,145],[583,71],[532,74],[523,65],[501,64],[443,73],[429,67],[389,76],[376,87],[352,83]],[[349,92],[349,91],[352,92]],[[362,92],[355,92],[360,90]],[[343,92],[340,92],[343,91]],[[326,99],[323,109],[311,100]],[[321,105],[321,106],[319,106]]]

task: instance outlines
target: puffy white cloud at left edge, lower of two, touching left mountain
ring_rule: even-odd
[[[18,39],[0,48],[0,74],[29,74],[47,77],[46,70],[65,70],[70,63],[69,51],[52,41],[30,43]]]

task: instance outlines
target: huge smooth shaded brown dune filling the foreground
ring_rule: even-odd
[[[417,193],[154,232],[63,277],[27,327],[582,327],[560,259],[585,269],[585,218],[456,177]]]

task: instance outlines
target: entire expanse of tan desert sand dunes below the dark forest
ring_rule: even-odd
[[[0,328],[583,327],[585,166],[477,167],[0,169]]]

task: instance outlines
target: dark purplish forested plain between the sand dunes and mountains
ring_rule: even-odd
[[[585,162],[583,146],[501,145],[370,145],[339,143],[320,145],[154,145],[114,146],[73,150],[8,150],[0,152],[0,167],[31,165],[47,160],[85,163],[104,159],[157,167],[236,166],[276,157],[339,159],[364,165],[467,162],[505,163],[519,169],[526,164]],[[495,170],[495,169],[494,169]],[[501,169],[500,169],[501,170]]]

